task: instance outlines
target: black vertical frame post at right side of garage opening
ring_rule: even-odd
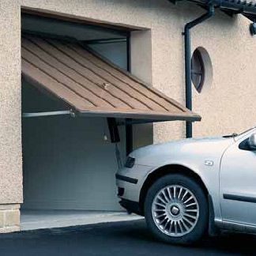
[[[131,56],[130,56],[130,35],[127,36],[127,71],[131,71]],[[126,122],[131,122],[131,119],[126,119]],[[126,124],[126,155],[133,151],[133,125]]]

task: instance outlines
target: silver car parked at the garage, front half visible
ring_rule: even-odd
[[[166,242],[190,244],[221,229],[256,233],[256,127],[137,149],[116,183],[120,204]]]

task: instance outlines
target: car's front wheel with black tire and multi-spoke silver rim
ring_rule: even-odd
[[[185,175],[169,174],[156,180],[146,194],[144,213],[152,234],[164,242],[190,245],[207,230],[205,193]]]

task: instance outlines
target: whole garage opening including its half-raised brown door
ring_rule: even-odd
[[[122,217],[122,125],[200,117],[124,71],[130,32],[31,14],[23,14],[22,31],[21,229]],[[120,124],[118,144],[107,119]]]

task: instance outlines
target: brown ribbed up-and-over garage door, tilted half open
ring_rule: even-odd
[[[22,75],[83,115],[199,121],[201,117],[77,42],[22,36]]]

